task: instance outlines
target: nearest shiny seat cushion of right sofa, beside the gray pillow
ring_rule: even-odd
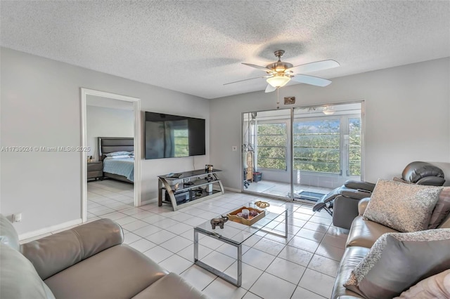
[[[332,299],[342,298],[342,296],[345,295],[360,297],[358,293],[345,288],[344,283],[345,281],[347,281],[347,278],[349,277],[352,270],[354,270],[356,265],[358,265],[361,260],[363,260],[369,250],[369,248],[358,246],[345,249],[345,253],[340,260],[338,274],[336,274],[335,286],[333,287],[333,295],[331,295]]]

